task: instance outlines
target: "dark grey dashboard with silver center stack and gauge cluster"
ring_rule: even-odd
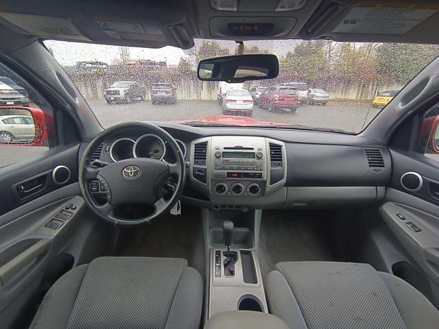
[[[387,147],[360,136],[250,127],[157,123],[187,162],[182,202],[203,208],[331,208],[371,204],[390,182]],[[84,148],[82,148],[84,150]],[[154,158],[175,163],[160,137],[123,131],[93,158]]]

